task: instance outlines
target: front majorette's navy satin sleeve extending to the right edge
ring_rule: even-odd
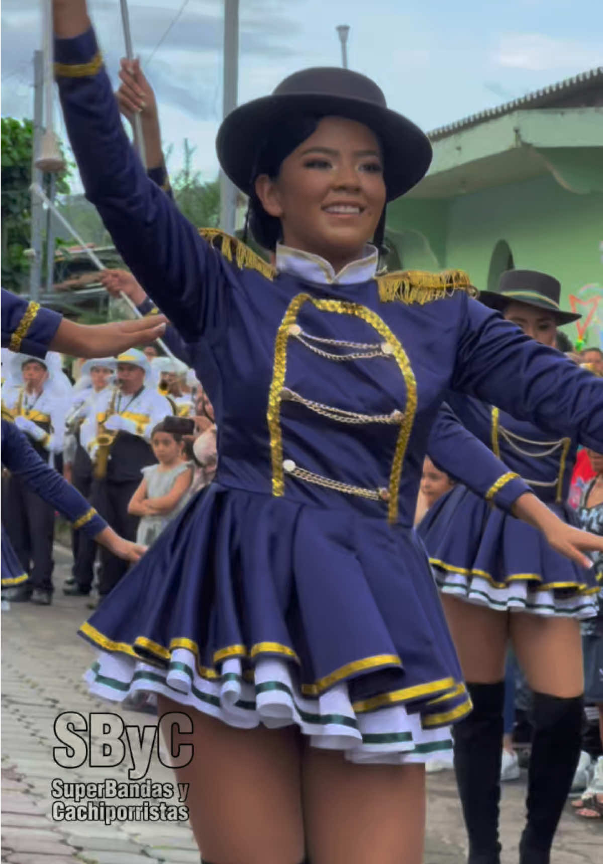
[[[464,302],[452,388],[603,452],[603,378],[478,301]]]

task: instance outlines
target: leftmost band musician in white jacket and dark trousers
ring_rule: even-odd
[[[62,454],[65,435],[67,397],[48,371],[50,353],[45,359],[15,354],[14,377],[20,372],[22,383],[3,395],[3,407],[17,429],[28,435],[32,447],[43,461],[54,466]],[[12,593],[12,600],[32,600],[48,605],[53,594],[54,507],[11,474],[8,482],[3,522],[22,569],[29,581]]]

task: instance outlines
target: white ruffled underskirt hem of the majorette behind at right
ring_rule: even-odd
[[[511,581],[505,588],[495,588],[481,576],[461,573],[441,573],[435,569],[435,581],[443,594],[453,594],[461,600],[487,606],[497,612],[530,612],[551,617],[587,619],[597,614],[597,594],[574,593],[564,597],[553,590],[530,590],[525,579]]]

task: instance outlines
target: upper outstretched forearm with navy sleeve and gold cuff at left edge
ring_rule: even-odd
[[[2,346],[43,357],[52,349],[74,357],[118,354],[132,345],[159,339],[165,321],[111,321],[76,324],[53,309],[2,289]]]

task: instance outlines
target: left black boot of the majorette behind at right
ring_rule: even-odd
[[[468,864],[499,864],[498,803],[505,682],[467,683],[473,711],[456,723],[454,772],[469,838]]]

